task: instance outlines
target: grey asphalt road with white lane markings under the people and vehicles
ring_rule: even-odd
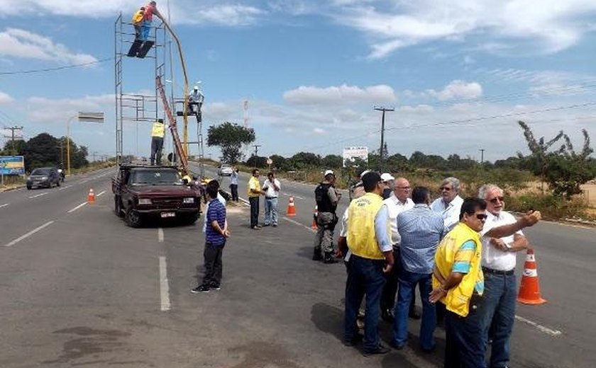
[[[298,215],[277,229],[252,231],[248,209],[229,207],[222,289],[195,295],[189,289],[202,274],[202,220],[128,228],[113,213],[114,171],[70,178],[62,188],[0,193],[0,367],[441,362],[443,331],[436,332],[438,350],[425,355],[416,348],[415,321],[409,347],[385,357],[365,358],[341,344],[345,270],[310,260],[313,186],[282,181],[281,212],[293,195]],[[98,194],[94,205],[84,205],[89,188]],[[548,304],[519,306],[512,366],[595,367],[596,231],[542,223],[526,235]],[[387,340],[390,326],[380,326]]]

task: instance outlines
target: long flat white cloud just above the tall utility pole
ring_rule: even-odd
[[[397,96],[384,84],[365,88],[343,84],[326,88],[300,86],[286,91],[284,100],[292,105],[370,104],[395,102]]]

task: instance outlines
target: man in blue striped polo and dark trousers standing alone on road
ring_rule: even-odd
[[[207,199],[209,206],[205,214],[205,248],[204,248],[204,277],[198,287],[191,290],[196,294],[209,292],[212,289],[219,290],[221,287],[221,275],[223,273],[223,247],[226,246],[226,239],[230,236],[226,222],[226,207],[217,200],[217,190],[214,185],[207,185]]]

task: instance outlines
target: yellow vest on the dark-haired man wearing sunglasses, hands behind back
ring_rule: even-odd
[[[474,291],[482,295],[484,290],[484,275],[482,275],[482,268],[480,267],[481,254],[482,241],[480,241],[480,234],[462,222],[459,222],[453,230],[449,231],[443,241],[439,243],[435,253],[433,288],[441,285],[435,272],[438,272],[443,280],[447,280],[454,270],[454,265],[458,263],[458,259],[470,259],[471,255],[468,273],[465,273],[458,286],[449,289],[447,295],[441,299],[441,302],[446,305],[449,311],[459,316],[468,316],[470,298]]]

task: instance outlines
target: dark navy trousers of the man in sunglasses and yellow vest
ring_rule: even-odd
[[[462,317],[445,312],[444,368],[486,368],[482,327],[478,315],[481,297],[470,300],[470,312]]]

